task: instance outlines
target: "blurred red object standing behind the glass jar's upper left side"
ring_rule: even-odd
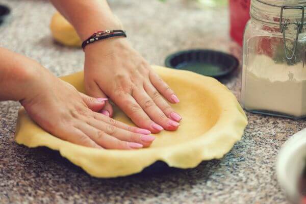
[[[250,19],[251,0],[230,0],[231,37],[242,46],[243,32]]]

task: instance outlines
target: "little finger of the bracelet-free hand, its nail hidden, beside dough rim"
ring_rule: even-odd
[[[85,135],[82,131],[80,131],[79,129],[75,127],[71,127],[69,129],[65,127],[64,130],[66,134],[63,135],[61,139],[64,139],[73,144],[79,144],[82,146],[102,148],[101,146],[97,145],[92,139],[90,139],[87,135]],[[66,130],[69,130],[69,132],[67,132]]]

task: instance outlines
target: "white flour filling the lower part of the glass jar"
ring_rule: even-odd
[[[247,64],[241,91],[245,109],[294,117],[306,115],[306,67],[301,62],[289,66],[257,55]]]

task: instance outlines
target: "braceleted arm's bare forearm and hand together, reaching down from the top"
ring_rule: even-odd
[[[101,0],[51,0],[85,40],[96,31],[122,29],[107,3]],[[88,15],[90,13],[90,15]],[[158,133],[175,131],[181,116],[169,106],[179,98],[152,71],[125,38],[92,43],[85,48],[85,87],[89,95],[108,95],[138,126]],[[107,102],[101,113],[112,116]]]

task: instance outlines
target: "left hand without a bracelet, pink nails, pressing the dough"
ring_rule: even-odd
[[[149,131],[103,114],[106,98],[92,98],[45,69],[31,79],[31,94],[20,101],[45,131],[63,140],[95,148],[138,149],[155,139]]]

